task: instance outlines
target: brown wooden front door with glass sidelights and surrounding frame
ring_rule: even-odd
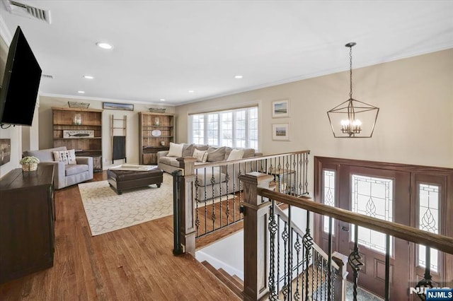
[[[409,225],[453,237],[453,169],[396,163],[315,157],[314,199],[328,206]],[[329,219],[315,215],[314,237],[328,251]],[[332,251],[349,255],[354,225],[333,220]],[[384,295],[386,237],[369,229],[357,231],[362,269],[360,287]],[[451,286],[453,254],[391,237],[390,299],[418,300],[413,293],[430,259],[434,287]],[[428,258],[427,258],[428,257]],[[348,267],[352,279],[352,268]]]

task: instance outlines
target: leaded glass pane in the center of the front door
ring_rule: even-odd
[[[394,180],[378,177],[352,175],[352,212],[372,216],[381,220],[393,221]],[[386,238],[382,232],[368,228],[358,228],[358,243],[374,251],[386,252]],[[355,228],[351,231],[353,237]],[[393,254],[393,240],[390,240],[389,252]]]

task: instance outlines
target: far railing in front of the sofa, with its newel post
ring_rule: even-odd
[[[181,182],[179,200],[180,240],[185,252],[195,254],[195,238],[243,220],[241,175],[264,172],[273,177],[277,191],[302,196],[308,191],[309,151],[195,165],[192,157],[178,158]],[[190,246],[190,247],[189,247]],[[176,246],[175,249],[178,249]]]

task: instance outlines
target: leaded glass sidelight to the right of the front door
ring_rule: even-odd
[[[418,185],[418,228],[431,233],[439,234],[439,187],[430,184]],[[430,250],[430,266],[437,272],[439,252]],[[426,266],[426,247],[418,245],[418,265]]]

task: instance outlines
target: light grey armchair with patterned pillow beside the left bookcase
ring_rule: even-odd
[[[93,158],[76,157],[76,164],[65,164],[54,160],[54,151],[67,151],[66,146],[48,148],[39,151],[24,151],[23,156],[35,156],[40,159],[39,165],[54,165],[55,189],[62,189],[88,179],[93,179]],[[38,165],[38,168],[39,168]]]

